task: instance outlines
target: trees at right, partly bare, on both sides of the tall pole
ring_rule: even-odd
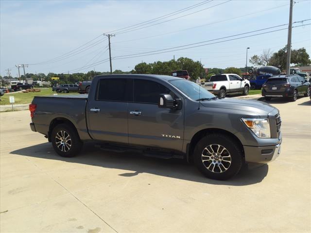
[[[262,54],[254,55],[249,62],[255,66],[273,66],[286,70],[287,46],[276,52],[263,50]],[[305,48],[291,51],[291,64],[297,67],[310,66],[311,60]]]

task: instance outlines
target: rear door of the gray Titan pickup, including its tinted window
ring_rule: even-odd
[[[117,76],[99,79],[97,86],[94,83],[95,96],[89,97],[86,106],[88,132],[93,139],[128,143],[128,101],[133,93],[132,82],[132,79]]]

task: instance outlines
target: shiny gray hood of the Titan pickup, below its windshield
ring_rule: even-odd
[[[258,100],[240,100],[235,98],[225,98],[220,100],[201,101],[205,107],[211,108],[226,108],[240,111],[246,111],[259,116],[267,116],[271,111],[276,108],[270,104]]]

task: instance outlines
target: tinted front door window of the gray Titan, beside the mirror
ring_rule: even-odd
[[[170,94],[176,98],[174,93],[160,83],[149,80],[134,80],[134,102],[157,104],[160,94]]]

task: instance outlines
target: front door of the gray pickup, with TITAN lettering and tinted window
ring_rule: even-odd
[[[128,105],[129,143],[182,150],[184,107],[181,110],[159,108],[159,94],[182,99],[157,80],[134,79],[134,101]]]

